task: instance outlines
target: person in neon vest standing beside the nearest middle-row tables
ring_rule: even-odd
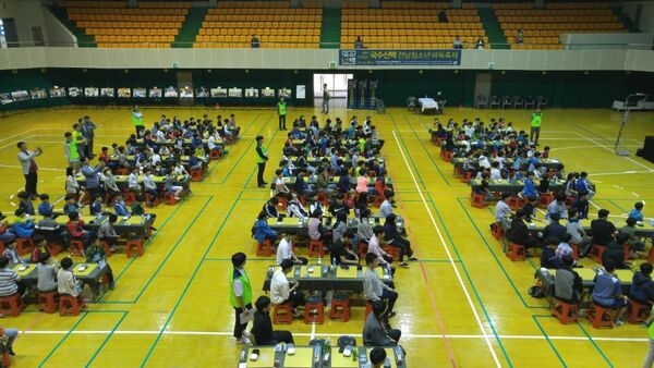
[[[245,320],[245,322],[241,320],[243,312],[253,312],[252,284],[247,273],[245,273],[246,260],[247,256],[244,253],[234,253],[232,255],[233,268],[229,275],[229,302],[234,308],[234,338],[237,338],[237,344],[250,344],[250,333],[245,331],[249,320]]]

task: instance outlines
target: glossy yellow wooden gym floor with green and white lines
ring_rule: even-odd
[[[317,109],[291,109],[292,121]],[[235,113],[242,139],[229,155],[211,162],[210,174],[193,184],[193,196],[178,206],[161,205],[159,229],[142,258],[117,254],[109,259],[117,287],[76,318],[37,311],[29,305],[19,318],[0,323],[20,329],[16,367],[37,366],[150,366],[234,367],[240,346],[231,336],[232,309],[227,302],[230,256],[243,250],[251,258],[247,270],[255,296],[261,294],[265,268],[272,259],[257,259],[250,228],[267,189],[256,187],[254,137],[263,134],[271,160],[270,177],[286,134],[277,131],[274,109],[146,108],[148,125],[161,113],[169,116],[213,118]],[[331,118],[348,121],[368,111],[336,109]],[[27,111],[0,118],[0,210],[13,211],[23,186],[15,143],[41,146],[39,193],[59,200],[63,193],[63,132],[77,118],[89,114],[98,125],[96,152],[102,145],[124,143],[132,133],[129,108],[70,108]],[[525,110],[488,111],[451,109],[443,121],[455,118],[486,122],[504,115],[518,128],[528,128]],[[597,184],[592,211],[607,208],[622,216],[633,203],[654,203],[654,164],[635,156],[618,157],[613,143],[621,114],[610,110],[556,110],[543,112],[542,145],[569,171],[585,170]],[[320,116],[323,118],[323,116]],[[426,132],[433,118],[403,109],[373,113],[383,138],[388,171],[396,185],[397,211],[407,219],[410,240],[420,262],[399,269],[398,316],[391,321],[402,330],[409,367],[540,367],[616,366],[642,364],[647,343],[640,326],[595,330],[585,320],[561,326],[548,315],[544,299],[526,290],[534,284],[537,259],[511,262],[489,233],[491,209],[470,206],[469,188],[452,175],[438,157]],[[632,112],[625,142],[633,151],[643,136],[654,132],[654,114]],[[542,146],[541,146],[542,147]],[[645,216],[654,217],[651,205]],[[586,267],[591,263],[584,261]],[[290,327],[299,344],[312,336],[352,334],[361,341],[363,308],[353,308],[347,322],[329,321]]]

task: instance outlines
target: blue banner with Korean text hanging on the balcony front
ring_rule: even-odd
[[[341,66],[461,65],[461,50],[340,50]]]

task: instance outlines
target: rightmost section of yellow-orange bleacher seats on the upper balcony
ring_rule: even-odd
[[[564,33],[627,32],[609,3],[547,3],[546,9],[533,9],[532,3],[494,4],[495,14],[512,49],[558,50],[564,46]],[[516,42],[518,29],[524,33],[523,44]]]

